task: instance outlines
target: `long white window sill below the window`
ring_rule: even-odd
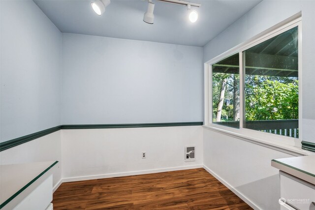
[[[228,131],[225,129],[221,129],[221,128],[209,126],[209,125],[203,125],[202,127],[206,128],[208,130],[212,130],[212,131],[215,131],[218,133],[222,133],[222,134],[237,138],[237,139],[248,141],[248,142],[251,142],[253,144],[257,144],[257,145],[267,147],[267,148],[270,148],[273,150],[282,151],[284,153],[288,153],[288,154],[291,154],[294,156],[303,156],[303,155],[312,155],[312,154],[314,155],[314,152],[302,150],[301,148],[287,145],[284,143],[279,143],[279,142],[275,142],[275,141],[271,141],[271,140],[267,140],[267,139],[262,139],[262,138],[255,138],[255,137],[250,136],[250,135],[244,135],[244,134],[236,133],[233,131]]]

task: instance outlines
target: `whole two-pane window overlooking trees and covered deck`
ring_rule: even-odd
[[[300,22],[208,62],[210,112],[205,113],[210,125],[242,134],[299,138]]]

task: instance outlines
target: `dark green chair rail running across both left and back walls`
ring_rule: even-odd
[[[100,129],[100,128],[136,128],[136,127],[169,127],[169,126],[195,126],[203,125],[203,122],[165,122],[165,123],[135,123],[135,124],[75,124],[75,125],[59,125],[48,128],[36,133],[12,139],[0,143],[0,151],[13,148],[15,146],[32,141],[47,134],[56,132],[60,129]]]

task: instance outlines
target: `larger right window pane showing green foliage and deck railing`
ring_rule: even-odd
[[[298,28],[243,52],[244,128],[298,138]]]

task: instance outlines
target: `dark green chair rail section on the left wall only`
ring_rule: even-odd
[[[36,133],[32,133],[32,134],[29,134],[29,135],[26,135],[26,136],[22,136],[22,137],[19,137],[19,138],[16,138],[16,139],[12,139],[12,140],[9,140],[9,141],[6,141],[6,142],[1,142],[0,143],[0,151],[13,148],[15,146],[24,144],[26,142],[32,141],[34,139],[37,139],[39,137],[42,137],[42,136],[48,135],[50,133],[56,132],[56,131],[60,130],[61,127],[62,127],[61,125],[58,125],[56,127],[48,128],[46,130],[38,131]]]

